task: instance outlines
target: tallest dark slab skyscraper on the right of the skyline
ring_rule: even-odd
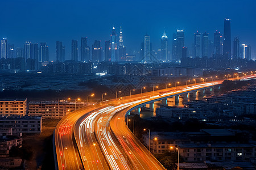
[[[230,19],[224,19],[224,44],[223,44],[223,55],[231,58],[231,30],[230,30]]]

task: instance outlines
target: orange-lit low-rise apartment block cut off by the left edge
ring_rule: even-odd
[[[27,113],[27,99],[0,99],[0,115],[25,116]]]

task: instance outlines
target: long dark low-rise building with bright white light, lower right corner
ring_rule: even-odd
[[[177,147],[185,162],[250,162],[256,159],[256,146],[247,143],[184,143]]]

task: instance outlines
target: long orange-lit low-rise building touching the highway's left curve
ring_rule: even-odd
[[[62,118],[76,109],[85,107],[83,102],[60,101],[31,101],[28,103],[28,116],[42,116],[43,118]]]

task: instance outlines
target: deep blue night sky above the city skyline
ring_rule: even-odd
[[[50,59],[55,59],[55,42],[63,41],[66,59],[71,58],[71,40],[88,37],[94,40],[110,40],[113,25],[122,25],[123,41],[130,50],[139,50],[143,35],[151,36],[153,49],[160,46],[164,30],[169,37],[184,29],[185,46],[192,48],[193,33],[209,32],[213,40],[216,29],[223,33],[224,18],[231,18],[233,37],[251,45],[251,58],[256,53],[255,0],[183,0],[183,1],[56,1],[56,0],[1,0],[0,37],[9,43],[24,46],[25,41],[47,42]],[[118,33],[119,34],[119,33]]]

